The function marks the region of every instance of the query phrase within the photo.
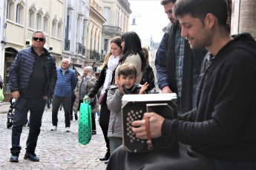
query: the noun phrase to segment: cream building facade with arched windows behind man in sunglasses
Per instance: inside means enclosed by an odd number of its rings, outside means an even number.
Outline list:
[[[30,47],[35,30],[45,32],[45,48],[56,59],[56,66],[60,67],[64,0],[6,0],[4,7],[4,96],[5,101],[9,101],[10,66],[19,50]]]

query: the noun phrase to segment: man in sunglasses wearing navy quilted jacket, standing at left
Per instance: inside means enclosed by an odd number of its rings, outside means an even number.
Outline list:
[[[32,47],[16,55],[10,69],[10,91],[16,99],[13,118],[12,148],[10,162],[18,163],[22,126],[30,110],[30,131],[24,159],[39,161],[36,143],[42,125],[45,102],[53,95],[56,84],[56,64],[50,52],[44,48],[45,33],[33,33]]]

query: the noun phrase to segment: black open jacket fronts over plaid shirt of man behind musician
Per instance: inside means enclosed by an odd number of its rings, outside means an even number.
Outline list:
[[[166,37],[166,69],[168,74],[168,84],[172,92],[177,93],[177,81],[176,81],[176,67],[175,67],[175,36],[176,36],[176,25],[171,27],[171,30]],[[185,41],[184,47],[184,58],[183,58],[183,84],[182,84],[182,94],[181,94],[181,112],[188,112],[192,108],[192,89],[193,89],[193,69],[196,67],[197,75],[199,77],[200,68],[204,56],[206,55],[206,50],[191,50],[188,40]]]

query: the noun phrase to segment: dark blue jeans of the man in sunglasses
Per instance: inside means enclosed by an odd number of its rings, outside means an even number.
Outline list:
[[[22,147],[20,146],[20,138],[22,134],[22,127],[27,120],[27,112],[30,110],[30,130],[27,137],[27,152],[34,153],[36,150],[36,143],[40,134],[42,125],[42,115],[45,110],[46,100],[44,98],[19,98],[15,103],[15,114],[13,117],[13,131],[12,131],[12,154],[19,154]]]

